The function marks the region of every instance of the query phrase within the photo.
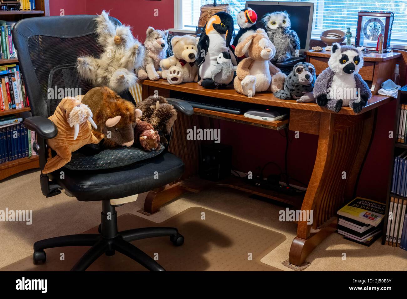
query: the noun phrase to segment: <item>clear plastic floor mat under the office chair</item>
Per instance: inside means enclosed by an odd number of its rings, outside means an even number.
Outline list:
[[[261,258],[286,239],[275,231],[201,207],[190,207],[162,223],[154,223],[133,214],[118,217],[119,231],[158,226],[176,227],[185,237],[184,244],[175,247],[169,237],[131,243],[149,256],[158,257],[158,263],[167,271],[280,271],[260,262]],[[97,227],[85,233],[97,233]],[[0,270],[68,271],[88,248],[45,249],[45,264],[34,265],[30,255]],[[64,260],[60,260],[61,253],[64,253]],[[144,270],[143,266],[117,251],[113,256],[102,255],[88,268],[88,271]]]

